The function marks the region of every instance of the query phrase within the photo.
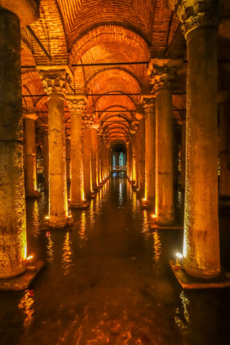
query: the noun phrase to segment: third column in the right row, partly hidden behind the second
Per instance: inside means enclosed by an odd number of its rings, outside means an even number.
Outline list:
[[[143,99],[145,119],[145,194],[144,203],[155,209],[155,99]]]

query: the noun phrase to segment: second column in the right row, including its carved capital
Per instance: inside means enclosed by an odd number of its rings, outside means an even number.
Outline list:
[[[149,72],[155,92],[155,221],[174,221],[172,88],[180,60],[151,59]]]

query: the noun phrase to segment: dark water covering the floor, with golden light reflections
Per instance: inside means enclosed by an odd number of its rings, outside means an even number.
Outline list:
[[[28,200],[27,214],[28,255],[46,267],[30,290],[0,292],[1,345],[230,343],[229,289],[180,288],[169,259],[182,231],[149,230],[125,177],[73,211],[69,230],[41,230],[45,195]]]

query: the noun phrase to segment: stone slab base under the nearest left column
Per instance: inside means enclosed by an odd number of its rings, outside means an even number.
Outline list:
[[[0,279],[0,290],[17,291],[28,288],[43,266],[44,262],[37,260],[32,264],[28,264],[23,274],[13,278]]]

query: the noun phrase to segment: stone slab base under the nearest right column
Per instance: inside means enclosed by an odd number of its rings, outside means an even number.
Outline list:
[[[182,288],[226,288],[230,286],[230,273],[226,272],[225,270],[221,270],[220,274],[217,277],[207,279],[188,275],[184,271],[184,269],[182,267],[180,268],[180,266],[175,264],[175,261],[173,260],[169,260],[169,264]]]

